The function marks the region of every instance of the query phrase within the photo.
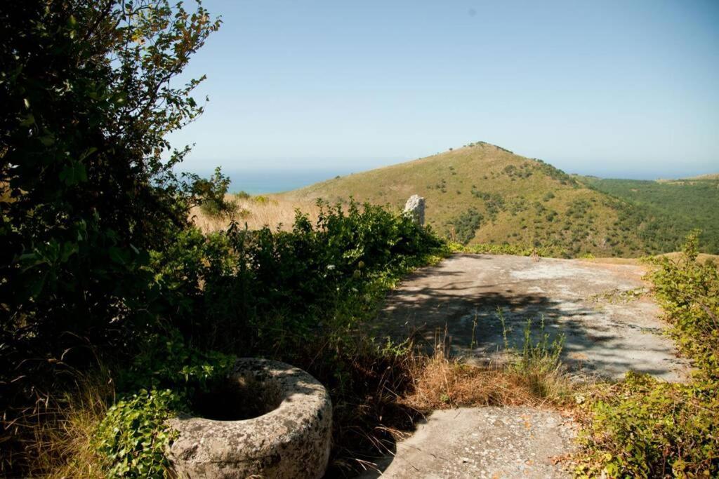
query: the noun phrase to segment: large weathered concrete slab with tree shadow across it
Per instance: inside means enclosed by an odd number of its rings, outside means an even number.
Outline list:
[[[539,339],[544,318],[550,338],[564,335],[562,358],[573,371],[618,379],[633,370],[682,381],[689,365],[663,335],[643,275],[641,266],[626,264],[455,254],[408,276],[388,297],[376,333],[402,340],[414,332],[432,348],[446,327],[452,354],[500,361],[500,308],[510,345],[521,347],[530,319]]]

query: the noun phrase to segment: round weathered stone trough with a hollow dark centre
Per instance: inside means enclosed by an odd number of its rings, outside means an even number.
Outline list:
[[[178,417],[170,472],[180,478],[321,478],[327,468],[332,404],[305,371],[240,358],[224,383],[198,396],[194,417]]]

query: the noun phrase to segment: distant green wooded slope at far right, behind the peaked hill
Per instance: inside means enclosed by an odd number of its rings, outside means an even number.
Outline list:
[[[666,227],[671,224],[686,232],[700,228],[702,248],[708,253],[719,253],[719,175],[660,181],[579,179],[597,190],[663,215],[667,218]]]

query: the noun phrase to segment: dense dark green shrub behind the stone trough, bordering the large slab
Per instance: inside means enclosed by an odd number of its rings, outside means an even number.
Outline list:
[[[400,359],[362,340],[362,321],[374,317],[402,274],[444,250],[429,231],[377,206],[320,203],[320,209],[316,224],[298,214],[290,232],[237,225],[208,236],[188,231],[152,264],[178,297],[181,315],[173,322],[193,344],[288,361],[319,378],[340,415],[335,441],[347,454],[349,445],[374,447],[372,424],[381,424],[384,401],[396,399],[387,397],[385,381],[395,390],[408,377]],[[134,369],[156,362],[148,358]],[[393,372],[385,373],[390,365]],[[175,381],[173,391],[182,385]]]

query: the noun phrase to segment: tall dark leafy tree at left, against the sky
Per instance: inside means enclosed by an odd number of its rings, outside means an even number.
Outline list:
[[[149,251],[187,225],[203,106],[175,78],[219,20],[167,0],[0,3],[0,406],[28,404],[79,345],[124,345],[160,301]],[[164,159],[163,159],[164,158]],[[45,376],[43,376],[45,374]]]

